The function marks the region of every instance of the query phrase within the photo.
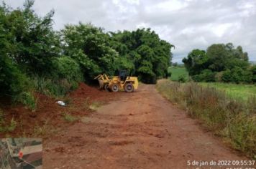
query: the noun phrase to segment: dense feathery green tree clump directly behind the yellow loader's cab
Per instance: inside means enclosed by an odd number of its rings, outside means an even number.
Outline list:
[[[142,82],[155,83],[158,77],[168,76],[168,67],[172,54],[172,44],[161,40],[150,29],[137,29],[133,32],[111,33],[111,47],[119,52],[131,74]]]

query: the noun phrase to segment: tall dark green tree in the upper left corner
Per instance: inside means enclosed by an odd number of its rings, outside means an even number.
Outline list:
[[[26,72],[50,74],[52,58],[60,53],[58,35],[52,29],[54,11],[41,18],[33,11],[33,4],[27,0],[24,8],[0,7],[1,29],[9,42],[5,52]]]

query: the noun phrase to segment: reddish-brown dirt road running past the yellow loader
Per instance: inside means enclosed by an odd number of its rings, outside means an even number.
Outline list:
[[[240,160],[154,85],[123,93],[44,143],[44,168],[188,168],[188,160]]]

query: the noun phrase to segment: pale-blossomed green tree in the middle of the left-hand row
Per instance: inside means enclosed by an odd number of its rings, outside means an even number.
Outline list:
[[[90,81],[99,73],[113,75],[118,69],[119,54],[109,45],[109,34],[91,24],[66,25],[61,31],[64,54],[81,65]]]

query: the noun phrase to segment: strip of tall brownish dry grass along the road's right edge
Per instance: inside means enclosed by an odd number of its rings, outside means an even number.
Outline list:
[[[191,117],[201,120],[209,130],[224,137],[233,148],[255,157],[255,97],[244,102],[227,97],[225,92],[214,87],[202,87],[193,82],[180,84],[170,80],[160,80],[157,90],[187,110]]]

